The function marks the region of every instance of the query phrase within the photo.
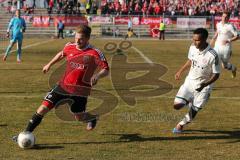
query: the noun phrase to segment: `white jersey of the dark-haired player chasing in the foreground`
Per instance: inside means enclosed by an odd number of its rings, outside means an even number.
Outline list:
[[[214,73],[220,73],[219,57],[210,45],[203,51],[192,45],[188,59],[192,61],[192,65],[186,79],[194,80],[195,85],[208,81]]]

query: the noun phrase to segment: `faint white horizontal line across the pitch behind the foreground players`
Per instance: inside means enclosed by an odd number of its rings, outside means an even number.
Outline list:
[[[47,93],[47,91],[46,91],[46,93]],[[44,97],[44,95],[45,94],[35,95],[35,96],[28,96],[28,95],[1,95],[1,97],[3,97],[3,98],[39,98],[39,97]],[[120,97],[120,96],[116,96],[116,97]],[[149,98],[151,98],[151,97],[149,97]],[[174,96],[158,96],[158,97],[152,97],[152,98],[174,99],[175,97]],[[240,97],[221,97],[221,96],[211,97],[210,96],[210,99],[240,100]]]

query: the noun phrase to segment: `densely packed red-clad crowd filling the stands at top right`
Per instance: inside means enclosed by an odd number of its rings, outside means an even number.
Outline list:
[[[239,16],[239,0],[112,0],[102,2],[102,14],[116,15],[219,15],[224,10]]]

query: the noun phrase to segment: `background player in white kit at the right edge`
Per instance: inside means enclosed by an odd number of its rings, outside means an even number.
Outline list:
[[[233,64],[229,63],[232,46],[231,43],[238,39],[238,32],[234,25],[229,23],[230,13],[223,12],[222,20],[217,23],[217,30],[211,40],[211,46],[214,46],[214,50],[217,52],[220,60],[222,61],[223,68],[232,71],[232,77],[236,77],[237,68]]]

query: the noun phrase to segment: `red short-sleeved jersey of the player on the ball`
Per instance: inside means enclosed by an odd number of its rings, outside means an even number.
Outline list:
[[[68,93],[88,96],[91,91],[91,77],[98,69],[109,70],[104,54],[91,45],[79,49],[76,43],[67,43],[63,49],[66,56],[66,70],[59,85]]]

